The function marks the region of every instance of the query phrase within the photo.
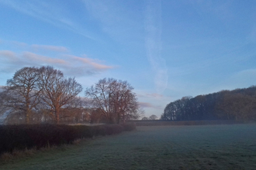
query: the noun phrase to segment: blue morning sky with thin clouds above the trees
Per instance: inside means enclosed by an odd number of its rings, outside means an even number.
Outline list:
[[[256,85],[256,1],[0,0],[0,86],[54,66],[85,89],[134,87],[145,116],[185,96]]]

